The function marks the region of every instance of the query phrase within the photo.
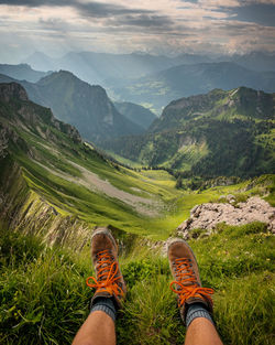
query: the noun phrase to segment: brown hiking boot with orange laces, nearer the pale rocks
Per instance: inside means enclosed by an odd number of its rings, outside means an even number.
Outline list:
[[[177,294],[180,316],[185,322],[188,305],[202,303],[212,313],[212,289],[202,288],[198,263],[191,248],[180,238],[168,246],[168,260],[174,281],[170,289]]]

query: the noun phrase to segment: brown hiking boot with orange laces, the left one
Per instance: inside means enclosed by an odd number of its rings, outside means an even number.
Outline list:
[[[127,293],[127,287],[118,261],[118,245],[107,228],[97,228],[91,237],[91,259],[96,278],[87,278],[87,285],[95,288],[91,299],[98,297],[113,298],[118,309]]]

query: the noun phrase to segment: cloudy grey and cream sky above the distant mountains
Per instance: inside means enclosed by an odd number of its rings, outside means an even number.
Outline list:
[[[0,62],[36,51],[275,52],[275,0],[0,0]]]

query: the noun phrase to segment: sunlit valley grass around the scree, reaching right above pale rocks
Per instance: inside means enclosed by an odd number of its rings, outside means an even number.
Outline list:
[[[46,149],[44,148],[44,150]],[[240,191],[244,190],[250,182],[212,187],[202,192],[180,191],[175,188],[176,181],[166,171],[142,170],[138,172],[124,168],[120,168],[118,171],[92,151],[88,153],[86,160],[82,158],[80,160],[72,153],[68,154],[67,151],[62,154],[63,160],[66,154],[67,160],[75,161],[87,171],[96,173],[102,180],[108,180],[113,186],[133,197],[136,195],[158,203],[158,215],[146,216],[123,201],[78,184],[77,180],[72,183],[69,179],[81,179],[81,173],[78,171],[73,175],[70,166],[66,170],[66,162],[62,164],[63,171],[58,170],[59,161],[58,166],[54,165],[57,172],[64,174],[65,177],[62,177],[23,154],[18,154],[15,160],[23,166],[23,177],[29,187],[36,193],[37,197],[42,196],[62,215],[75,215],[90,227],[111,224],[129,233],[148,236],[154,240],[166,239],[173,234],[176,227],[189,217],[189,212],[195,205],[218,201],[221,195],[229,193],[248,197],[250,194],[257,193],[262,188],[261,184],[266,183],[266,181],[255,182],[253,188],[241,194]],[[54,160],[52,162],[54,164]],[[66,179],[66,174],[69,179]],[[272,186],[263,187],[263,191],[266,188],[273,193]],[[270,200],[272,202],[273,195]],[[146,206],[146,208],[150,207],[155,211],[155,205]]]

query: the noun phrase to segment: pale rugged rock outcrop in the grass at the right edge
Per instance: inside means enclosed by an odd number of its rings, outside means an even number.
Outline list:
[[[178,235],[189,238],[193,229],[205,229],[208,234],[219,223],[228,225],[244,225],[252,222],[262,222],[268,225],[268,229],[275,233],[275,207],[264,200],[253,196],[244,203],[234,204],[234,197],[228,196],[229,203],[208,203],[195,206],[190,211],[190,218],[177,228]]]

